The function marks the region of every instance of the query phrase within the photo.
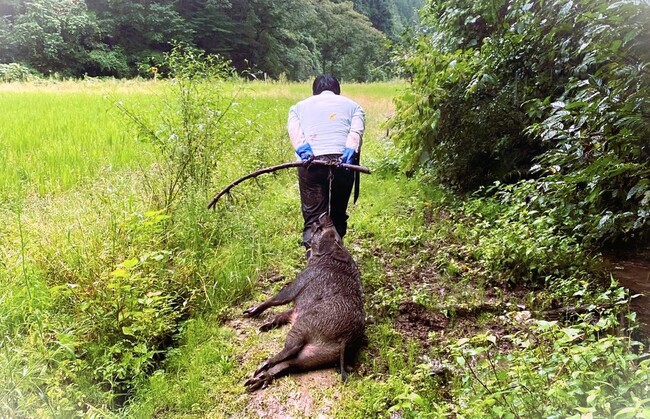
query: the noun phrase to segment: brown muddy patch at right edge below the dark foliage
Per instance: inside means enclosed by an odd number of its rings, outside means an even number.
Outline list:
[[[630,309],[637,314],[641,323],[639,333],[650,339],[650,249],[635,254],[608,255],[612,275],[622,286],[630,290]]]

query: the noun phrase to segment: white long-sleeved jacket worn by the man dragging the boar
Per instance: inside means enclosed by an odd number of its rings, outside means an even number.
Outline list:
[[[287,129],[294,150],[309,143],[316,156],[341,154],[345,147],[359,151],[365,114],[353,100],[326,90],[292,106]]]

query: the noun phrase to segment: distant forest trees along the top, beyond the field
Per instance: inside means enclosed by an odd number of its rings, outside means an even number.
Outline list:
[[[389,39],[420,0],[0,1],[0,64],[63,76],[151,76],[170,42],[232,61],[255,77],[332,72],[385,78]]]

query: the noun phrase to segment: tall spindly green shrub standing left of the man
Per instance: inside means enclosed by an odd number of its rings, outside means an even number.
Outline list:
[[[228,61],[177,44],[160,67],[170,83],[152,116],[122,102],[116,105],[138,138],[153,145],[159,166],[147,169],[147,185],[155,205],[169,208],[183,191],[210,184],[222,142],[239,131],[232,125],[239,122],[229,119],[235,97],[224,91],[224,82],[233,76]]]

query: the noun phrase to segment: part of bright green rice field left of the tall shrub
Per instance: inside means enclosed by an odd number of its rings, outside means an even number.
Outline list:
[[[147,164],[145,148],[125,129],[112,101],[145,106],[152,95],[115,85],[0,86],[0,190],[41,194]]]

